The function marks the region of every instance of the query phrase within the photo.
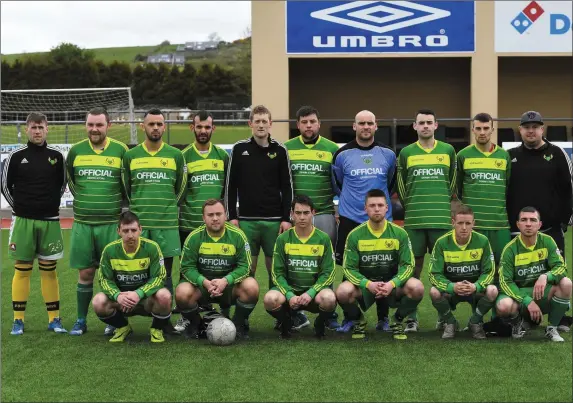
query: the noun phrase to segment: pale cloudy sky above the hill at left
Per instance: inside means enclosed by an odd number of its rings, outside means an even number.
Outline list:
[[[61,42],[81,48],[243,38],[250,1],[2,1],[3,54],[47,52]]]

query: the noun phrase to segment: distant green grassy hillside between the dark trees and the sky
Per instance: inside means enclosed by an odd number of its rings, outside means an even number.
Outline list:
[[[251,46],[250,40],[238,40],[233,43],[228,43],[221,46],[219,49],[206,50],[206,51],[188,51],[185,52],[187,61],[195,67],[199,67],[205,62],[219,64],[225,67],[234,67],[249,50]],[[102,60],[104,63],[111,63],[113,61],[130,63],[132,66],[137,65],[135,57],[139,55],[152,55],[156,53],[171,53],[174,52],[177,45],[155,45],[155,46],[131,46],[131,47],[116,47],[116,48],[97,48],[89,49],[94,52],[97,60]],[[20,53],[11,55],[2,55],[3,61],[13,63],[16,59],[25,59],[27,57],[34,57],[47,52],[41,53]]]

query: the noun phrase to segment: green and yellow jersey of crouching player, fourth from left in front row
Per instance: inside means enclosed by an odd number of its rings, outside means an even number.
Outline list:
[[[348,234],[342,267],[348,281],[362,289],[369,281],[392,281],[401,287],[414,273],[410,238],[387,220],[380,232],[366,221]]]

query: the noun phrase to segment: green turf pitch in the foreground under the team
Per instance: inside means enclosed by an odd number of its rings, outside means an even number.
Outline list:
[[[477,341],[469,333],[441,340],[426,285],[420,305],[420,332],[406,341],[374,330],[368,341],[328,332],[314,340],[304,329],[282,341],[272,329],[262,297],[267,277],[262,255],[257,279],[260,301],[251,316],[251,340],[216,347],[206,340],[149,342],[149,318],[132,318],[135,334],[122,345],[108,343],[105,325],[90,311],[89,332],[81,337],[48,333],[37,264],[26,312],[26,332],[11,336],[12,262],[8,231],[2,251],[2,401],[571,401],[571,333],[550,343],[543,329],[523,340]],[[66,256],[58,264],[61,315],[68,330],[76,317],[77,273],[68,267],[70,231],[64,231]],[[571,231],[567,234],[571,245]],[[569,249],[567,260],[571,262]],[[571,273],[571,264],[569,264]],[[174,268],[178,278],[178,265]],[[340,282],[341,273],[338,271]],[[96,286],[95,291],[99,288]],[[570,313],[569,313],[570,314]],[[462,325],[467,304],[455,313]],[[311,322],[314,315],[309,314]],[[489,315],[488,317],[489,318]],[[177,317],[173,318],[175,321]]]

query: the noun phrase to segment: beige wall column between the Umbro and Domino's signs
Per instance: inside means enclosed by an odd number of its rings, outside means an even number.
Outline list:
[[[498,117],[498,74],[495,53],[495,2],[476,1],[476,52],[471,67],[471,115],[487,112]],[[494,127],[497,128],[497,124]],[[475,143],[470,134],[471,143]],[[497,130],[491,140],[497,144]]]

